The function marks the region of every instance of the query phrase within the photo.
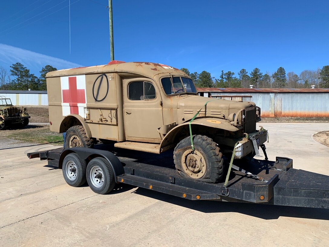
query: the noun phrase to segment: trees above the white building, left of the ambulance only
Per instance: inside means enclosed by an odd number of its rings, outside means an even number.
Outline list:
[[[0,67],[0,89],[1,90],[47,90],[46,74],[57,70],[51,65],[46,65],[40,70],[40,76],[30,72],[21,63],[10,66],[10,71]]]

